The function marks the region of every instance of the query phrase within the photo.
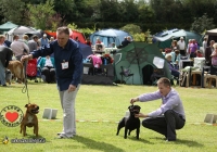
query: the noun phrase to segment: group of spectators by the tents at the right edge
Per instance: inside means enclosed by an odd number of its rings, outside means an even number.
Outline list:
[[[183,37],[180,37],[178,41],[173,40],[170,48],[165,49],[163,54],[165,55],[171,75],[177,78],[180,74],[180,60],[205,58],[205,65],[210,66],[212,71],[215,71],[217,67],[216,49],[217,43],[215,43],[215,40],[210,40],[208,45],[207,37],[204,37],[202,47],[200,47],[195,39],[189,39],[189,42],[186,43]]]

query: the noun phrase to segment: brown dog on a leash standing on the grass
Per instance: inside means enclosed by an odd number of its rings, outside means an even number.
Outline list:
[[[26,113],[21,122],[21,134],[23,131],[23,136],[26,136],[26,126],[34,127],[34,134],[38,137],[38,118],[36,114],[39,112],[39,106],[37,104],[26,104],[27,107]]]

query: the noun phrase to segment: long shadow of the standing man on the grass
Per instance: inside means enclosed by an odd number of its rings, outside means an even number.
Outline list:
[[[92,139],[85,138],[81,136],[76,136],[75,138],[73,138],[73,140],[76,140],[77,142],[80,142],[85,144],[88,149],[92,149],[92,150],[98,150],[98,151],[103,151],[103,152],[124,152],[123,149],[116,148],[113,144],[94,141]]]

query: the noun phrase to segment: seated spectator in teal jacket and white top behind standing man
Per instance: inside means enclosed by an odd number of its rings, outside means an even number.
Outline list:
[[[55,83],[55,63],[53,58],[49,55],[41,58],[38,66],[41,68],[41,77],[44,83]]]

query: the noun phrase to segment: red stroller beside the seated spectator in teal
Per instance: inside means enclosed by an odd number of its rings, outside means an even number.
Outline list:
[[[28,79],[35,79],[35,83],[38,83],[37,78],[40,78],[41,81],[41,73],[37,67],[37,59],[31,59],[28,61],[26,65],[26,76]]]

